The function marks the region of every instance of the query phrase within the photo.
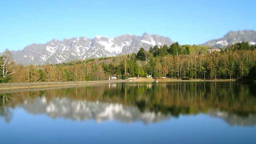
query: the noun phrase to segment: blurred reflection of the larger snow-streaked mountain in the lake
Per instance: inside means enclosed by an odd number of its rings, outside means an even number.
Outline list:
[[[36,107],[36,108],[35,108]],[[46,102],[45,96],[36,98],[33,103],[25,101],[20,106],[32,114],[46,114],[52,118],[65,118],[77,121],[95,120],[97,122],[115,120],[125,123],[144,122],[145,124],[170,119],[169,114],[161,112],[141,112],[138,107],[118,103],[90,102],[53,98]]]

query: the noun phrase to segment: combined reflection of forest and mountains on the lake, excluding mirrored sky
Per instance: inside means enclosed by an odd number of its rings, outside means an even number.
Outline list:
[[[31,114],[101,122],[160,122],[200,113],[230,125],[256,124],[255,85],[238,82],[110,83],[0,94],[0,116],[8,122],[12,108]]]

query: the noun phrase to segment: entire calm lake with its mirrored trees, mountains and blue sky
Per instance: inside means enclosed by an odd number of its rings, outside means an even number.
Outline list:
[[[120,82],[0,91],[0,140],[255,144],[256,85]]]

